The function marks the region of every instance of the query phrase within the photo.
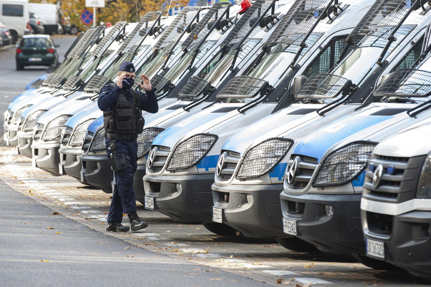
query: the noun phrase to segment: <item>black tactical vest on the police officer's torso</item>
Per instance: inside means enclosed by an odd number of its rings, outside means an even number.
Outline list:
[[[115,84],[109,84],[115,87]],[[116,100],[113,111],[103,112],[103,125],[106,133],[110,135],[138,135],[144,130],[144,118],[142,110],[136,106],[136,94],[133,95],[133,103],[127,100],[123,91]]]

